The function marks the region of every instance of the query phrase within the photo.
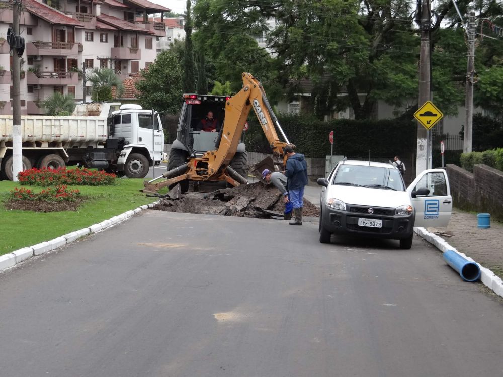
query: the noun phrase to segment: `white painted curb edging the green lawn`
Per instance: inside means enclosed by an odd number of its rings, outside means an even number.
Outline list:
[[[148,205],[143,205],[141,207],[135,208],[134,210],[129,210],[126,211],[118,216],[111,217],[108,220],[103,220],[99,224],[93,224],[87,228],[83,228],[80,230],[76,230],[74,232],[70,232],[68,234],[65,234],[61,237],[54,238],[50,241],[45,241],[38,243],[36,245],[30,246],[30,247],[24,247],[22,249],[18,249],[16,251],[13,251],[12,253],[5,254],[0,256],[0,272],[3,270],[6,270],[8,268],[14,267],[15,265],[30,259],[31,257],[35,255],[41,255],[46,252],[56,250],[60,248],[61,246],[64,246],[70,242],[76,241],[79,238],[85,237],[88,234],[91,233],[97,233],[101,232],[102,230],[106,228],[110,228],[112,225],[118,224],[121,221],[129,219],[131,216],[136,215],[137,213],[140,213],[143,210],[146,210],[147,208],[152,208],[154,205],[158,204],[160,200],[157,200],[153,203],[150,203]]]

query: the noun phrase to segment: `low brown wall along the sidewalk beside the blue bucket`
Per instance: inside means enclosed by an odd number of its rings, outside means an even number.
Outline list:
[[[503,221],[503,172],[487,165],[475,165],[473,173],[447,165],[447,175],[455,207],[486,212]]]

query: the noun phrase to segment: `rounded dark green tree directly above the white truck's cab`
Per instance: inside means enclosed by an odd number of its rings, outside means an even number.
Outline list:
[[[162,51],[141,75],[144,79],[136,83],[136,89],[142,107],[170,114],[180,110],[183,71],[175,53]]]

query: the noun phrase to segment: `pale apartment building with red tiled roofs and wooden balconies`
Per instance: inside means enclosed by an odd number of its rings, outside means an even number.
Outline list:
[[[125,80],[157,55],[165,24],[149,15],[169,12],[148,0],[22,0],[21,114],[43,114],[40,101],[54,92],[91,99],[84,72],[111,68]],[[138,17],[139,16],[139,17]],[[0,114],[12,114],[12,57],[5,38],[12,2],[0,0]],[[84,94],[85,92],[85,94]]]

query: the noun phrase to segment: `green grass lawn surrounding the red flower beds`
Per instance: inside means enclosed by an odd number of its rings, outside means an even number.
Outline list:
[[[88,197],[77,211],[39,213],[6,210],[5,201],[14,187],[35,192],[42,191],[43,187],[0,181],[0,255],[86,228],[156,200],[140,193],[143,179],[117,179],[116,182],[111,186],[68,186]]]

